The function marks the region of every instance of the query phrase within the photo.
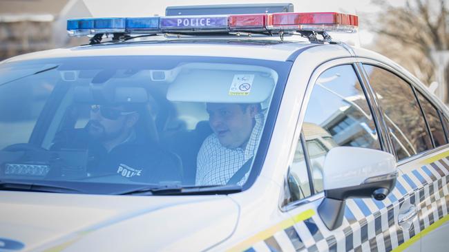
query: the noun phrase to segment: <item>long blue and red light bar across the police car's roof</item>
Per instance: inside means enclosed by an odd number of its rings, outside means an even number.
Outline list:
[[[356,32],[359,19],[337,12],[68,19],[70,36],[159,32]]]

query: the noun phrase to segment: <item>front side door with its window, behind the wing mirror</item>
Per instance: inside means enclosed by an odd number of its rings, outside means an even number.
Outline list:
[[[298,121],[301,133],[294,149],[294,156],[303,154],[304,160],[292,161],[286,187],[290,194],[300,194],[284,206],[296,221],[296,244],[309,251],[391,251],[409,240],[417,240],[409,249],[420,251],[419,220],[417,215],[408,215],[417,202],[417,193],[403,185],[405,178],[398,179],[397,187],[385,200],[346,200],[343,224],[332,231],[316,214],[323,198],[322,167],[329,149],[355,146],[391,151],[379,112],[372,106],[374,99],[356,72],[359,66],[352,59],[331,61],[318,67],[307,88]],[[302,174],[294,174],[295,170]],[[299,178],[296,181],[303,178],[297,183],[300,186],[292,185],[292,177]],[[309,187],[304,189],[307,182]],[[303,193],[307,190],[311,192],[309,198]],[[404,215],[408,222],[403,225],[410,225],[408,229],[399,227],[399,218]]]

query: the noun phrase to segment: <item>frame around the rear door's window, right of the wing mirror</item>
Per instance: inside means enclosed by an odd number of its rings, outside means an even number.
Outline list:
[[[422,151],[419,154],[415,154],[413,156],[410,156],[408,158],[404,158],[403,160],[398,160],[397,161],[397,166],[401,166],[404,165],[408,162],[412,162],[414,160],[418,160],[419,158],[423,158],[424,156],[430,155],[432,153],[435,153],[437,151],[441,151],[442,149],[446,149],[449,145],[441,145],[439,147],[434,147],[434,142],[433,142],[433,138],[432,138],[432,134],[430,132],[430,128],[426,119],[426,116],[423,114],[422,112],[422,108],[421,108],[421,103],[419,103],[419,99],[417,98],[417,93],[416,90],[418,90],[423,96],[424,98],[427,98],[428,101],[437,109],[438,112],[443,113],[443,116],[446,116],[447,118],[449,118],[449,111],[447,108],[443,108],[443,104],[441,103],[441,101],[438,101],[436,96],[433,97],[430,95],[429,91],[427,90],[427,87],[425,85],[423,85],[423,83],[421,83],[417,78],[415,78],[414,76],[412,76],[411,74],[407,73],[405,70],[401,69],[401,67],[399,66],[392,66],[389,65],[388,63],[383,63],[381,61],[377,61],[375,59],[370,59],[370,58],[359,58],[359,65],[361,66],[361,72],[363,73],[363,75],[365,75],[365,80],[366,80],[366,85],[368,85],[370,87],[370,92],[372,92],[372,95],[374,96],[374,90],[372,89],[369,79],[367,78],[368,74],[365,71],[365,68],[363,67],[363,65],[372,65],[374,67],[380,67],[385,71],[388,71],[392,74],[394,74],[395,76],[398,76],[399,78],[401,78],[403,81],[405,81],[405,83],[408,83],[408,85],[410,85],[412,87],[413,90],[413,94],[414,94],[414,98],[417,100],[418,104],[419,104],[419,108],[421,110],[421,114],[424,118],[424,121],[426,123],[426,130],[428,132],[428,134],[430,134],[430,138],[432,140],[432,145],[433,148],[432,149],[428,149],[426,151]],[[375,96],[374,96],[374,99]],[[381,112],[379,119],[383,121],[383,125],[385,126],[385,128],[383,130],[385,130],[385,132],[388,132],[388,127],[386,127],[386,122],[385,119],[383,118],[383,110],[381,108],[381,106],[379,105],[379,102],[377,103],[377,107],[379,109],[379,111]],[[441,122],[442,123],[442,122]],[[443,125],[443,129],[446,130],[446,128]],[[397,155],[394,151],[394,145],[392,144],[392,139],[390,137],[390,134],[387,134],[388,137],[388,143],[390,145],[389,149],[391,149],[390,154],[393,154],[396,158]]]

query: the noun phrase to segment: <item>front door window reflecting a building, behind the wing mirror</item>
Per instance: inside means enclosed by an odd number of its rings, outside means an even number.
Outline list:
[[[332,67],[321,74],[309,98],[302,129],[316,192],[323,191],[324,160],[333,147],[381,149],[352,65]]]

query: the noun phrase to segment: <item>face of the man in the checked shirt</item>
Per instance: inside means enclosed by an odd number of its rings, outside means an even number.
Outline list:
[[[254,127],[256,108],[238,104],[207,103],[209,123],[224,147],[235,149],[249,140]]]

